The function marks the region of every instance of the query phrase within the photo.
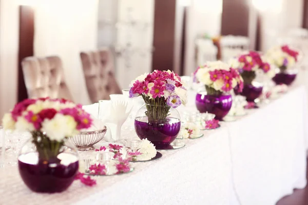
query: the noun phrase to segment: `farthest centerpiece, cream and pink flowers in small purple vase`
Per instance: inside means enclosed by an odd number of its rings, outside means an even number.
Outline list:
[[[297,70],[294,69],[294,66],[298,62],[299,51],[291,49],[287,45],[276,46],[267,51],[266,57],[271,64],[279,68],[279,72],[273,77],[275,83],[277,85],[291,85],[297,75]]]

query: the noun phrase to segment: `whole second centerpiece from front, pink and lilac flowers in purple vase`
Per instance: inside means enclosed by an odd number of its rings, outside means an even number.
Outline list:
[[[138,136],[147,138],[156,147],[168,146],[181,127],[175,108],[187,101],[187,90],[181,78],[169,70],[145,73],[131,82],[129,96],[141,96],[145,102],[135,119]]]

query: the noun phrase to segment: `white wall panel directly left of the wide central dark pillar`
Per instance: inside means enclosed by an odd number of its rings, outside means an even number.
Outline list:
[[[122,88],[128,88],[131,80],[151,71],[153,45],[154,0],[119,0],[118,20],[136,22],[132,27],[118,27],[116,44],[129,52],[116,60],[117,78]],[[148,26],[144,26],[147,24]]]

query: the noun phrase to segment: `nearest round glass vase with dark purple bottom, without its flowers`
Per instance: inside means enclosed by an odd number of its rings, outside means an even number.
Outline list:
[[[78,152],[69,141],[65,141],[58,150],[56,156],[40,157],[33,138],[22,147],[18,155],[18,170],[30,190],[40,193],[63,192],[72,184],[79,169]],[[46,149],[44,152],[52,150]]]

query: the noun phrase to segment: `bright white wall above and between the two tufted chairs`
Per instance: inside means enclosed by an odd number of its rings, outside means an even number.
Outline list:
[[[42,2],[37,4],[34,20],[34,55],[60,56],[74,101],[89,104],[80,52],[97,49],[98,1]]]

